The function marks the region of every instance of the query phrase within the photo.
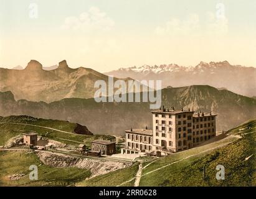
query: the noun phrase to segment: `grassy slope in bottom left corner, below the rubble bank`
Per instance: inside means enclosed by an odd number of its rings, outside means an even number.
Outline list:
[[[17,164],[19,162],[19,164]],[[75,167],[57,168],[42,164],[35,154],[25,152],[0,152],[0,186],[67,186],[90,176],[90,171]],[[37,165],[38,180],[29,180],[30,165]],[[26,174],[19,180],[9,180],[8,175]]]

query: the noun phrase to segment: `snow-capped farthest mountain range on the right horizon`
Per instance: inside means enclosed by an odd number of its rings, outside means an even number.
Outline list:
[[[105,75],[135,80],[162,80],[162,86],[210,85],[245,96],[256,95],[256,68],[230,65],[229,62],[201,62],[196,67],[170,65],[143,65],[120,68]]]

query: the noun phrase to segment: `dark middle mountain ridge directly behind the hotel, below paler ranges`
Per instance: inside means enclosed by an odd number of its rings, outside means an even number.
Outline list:
[[[52,93],[54,95],[54,93]],[[256,118],[256,99],[212,86],[164,88],[162,105],[218,114],[217,131],[230,129]],[[131,127],[151,127],[149,103],[96,103],[93,98],[69,98],[52,103],[14,99],[11,91],[0,92],[0,115],[29,115],[80,123],[94,134],[123,134]]]

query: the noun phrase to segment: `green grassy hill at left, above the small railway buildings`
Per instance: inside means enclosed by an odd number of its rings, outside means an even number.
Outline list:
[[[85,143],[90,147],[90,141],[94,139],[114,139],[115,137],[109,135],[79,135],[79,134],[65,134],[64,132],[58,132],[50,129],[44,129],[35,126],[26,126],[18,124],[1,124],[3,122],[7,123],[22,123],[22,124],[33,124],[37,126],[52,127],[60,131],[73,132],[75,128],[74,123],[69,123],[68,121],[59,121],[53,119],[37,119],[29,116],[8,116],[0,117],[0,146],[4,145],[8,139],[17,136],[27,131],[36,131],[40,136],[45,136],[50,139],[55,139],[57,141],[63,142],[65,144],[72,144],[77,146],[79,143]],[[70,141],[68,141],[70,140]],[[75,142],[72,142],[75,141]]]

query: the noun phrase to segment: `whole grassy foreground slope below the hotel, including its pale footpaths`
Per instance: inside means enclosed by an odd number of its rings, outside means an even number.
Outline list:
[[[239,131],[239,129],[244,129]],[[220,141],[186,150],[157,160],[143,162],[140,186],[255,186],[256,185],[256,120],[228,131]],[[216,179],[216,166],[224,165],[225,180]],[[91,178],[78,185],[134,185],[138,165],[107,175]],[[204,178],[203,170],[206,169]],[[127,173],[129,175],[127,175]],[[120,179],[123,182],[120,182]],[[110,183],[107,183],[110,182]]]

